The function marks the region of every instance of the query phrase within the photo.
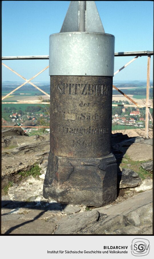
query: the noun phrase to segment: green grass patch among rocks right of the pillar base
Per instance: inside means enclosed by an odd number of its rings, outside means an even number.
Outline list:
[[[150,160],[149,160],[150,161]],[[147,162],[147,160],[144,161],[133,161],[131,160],[127,155],[125,155],[121,161],[120,167],[122,168],[129,168],[136,173],[139,174],[142,180],[146,179],[148,176],[151,178],[153,177],[152,173],[146,171],[141,167],[141,164]],[[131,164],[131,166],[127,166],[127,164]]]

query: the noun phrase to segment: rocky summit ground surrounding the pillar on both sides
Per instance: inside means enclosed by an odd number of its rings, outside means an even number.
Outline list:
[[[49,150],[49,134],[2,137],[2,187],[14,182],[2,196],[2,234],[152,234],[151,177],[141,182],[131,169],[119,169],[119,188],[127,188],[127,197],[133,197],[122,201],[118,197],[114,203],[97,208],[61,204],[42,196]],[[112,150],[119,164],[125,153],[131,159],[137,153],[137,159],[141,155],[141,160],[147,160],[152,141],[116,133],[112,135]],[[35,164],[41,167],[41,175],[19,181],[18,173]],[[142,167],[151,172],[152,161]],[[141,193],[134,195],[137,192]]]

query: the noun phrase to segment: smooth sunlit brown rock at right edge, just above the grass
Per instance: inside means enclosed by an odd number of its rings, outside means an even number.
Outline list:
[[[133,143],[128,147],[126,155],[133,161],[144,161],[153,158],[153,147],[147,144]]]

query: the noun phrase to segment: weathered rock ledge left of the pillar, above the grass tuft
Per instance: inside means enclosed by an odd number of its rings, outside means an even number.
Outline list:
[[[50,142],[41,141],[2,151],[2,188],[9,181],[18,181],[18,172],[30,170],[34,164],[47,161],[49,149]]]

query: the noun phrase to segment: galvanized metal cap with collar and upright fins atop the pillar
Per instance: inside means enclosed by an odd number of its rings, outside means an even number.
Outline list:
[[[105,33],[94,1],[71,1],[49,46],[50,76],[114,76],[114,36]]]

